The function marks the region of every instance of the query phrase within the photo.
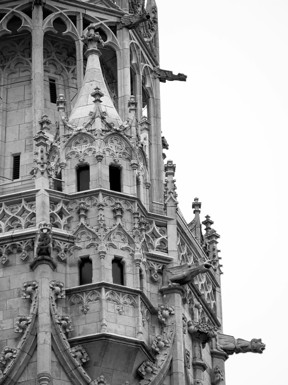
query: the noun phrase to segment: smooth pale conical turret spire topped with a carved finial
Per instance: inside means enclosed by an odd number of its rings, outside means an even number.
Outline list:
[[[103,97],[101,97],[101,109],[106,111],[107,120],[119,127],[122,122],[109,96],[99,61],[99,57],[101,56],[99,47],[104,46],[103,40],[99,32],[95,32],[97,29],[96,24],[91,23],[87,29],[88,32],[86,35],[83,35],[81,38],[82,42],[87,46],[85,52],[85,56],[87,57],[86,71],[83,85],[69,120],[77,126],[81,126],[84,122],[89,121],[89,112],[94,110],[94,97],[91,96],[91,94],[94,93],[95,87],[98,87],[103,94]]]

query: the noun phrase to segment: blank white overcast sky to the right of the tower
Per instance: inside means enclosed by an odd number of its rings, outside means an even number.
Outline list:
[[[188,76],[161,83],[179,206],[190,221],[199,197],[221,235],[224,333],[266,343],[262,355],[230,356],[226,384],[284,384],[288,2],[157,7],[161,68]]]

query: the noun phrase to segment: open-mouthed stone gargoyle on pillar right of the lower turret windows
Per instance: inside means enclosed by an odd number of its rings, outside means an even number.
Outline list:
[[[200,273],[206,273],[212,266],[212,261],[195,259],[195,263],[184,263],[166,269],[169,286],[187,285]]]

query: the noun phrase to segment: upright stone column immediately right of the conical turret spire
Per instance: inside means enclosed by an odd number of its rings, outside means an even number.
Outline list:
[[[118,63],[118,106],[119,116],[124,122],[128,114],[128,100],[131,95],[129,29],[119,29],[117,31],[117,38],[121,44],[121,62]]]

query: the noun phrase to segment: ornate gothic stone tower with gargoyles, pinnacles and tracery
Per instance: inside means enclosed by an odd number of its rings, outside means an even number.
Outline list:
[[[177,209],[154,0],[0,13],[0,384],[224,385],[265,345],[223,334],[219,235]]]

